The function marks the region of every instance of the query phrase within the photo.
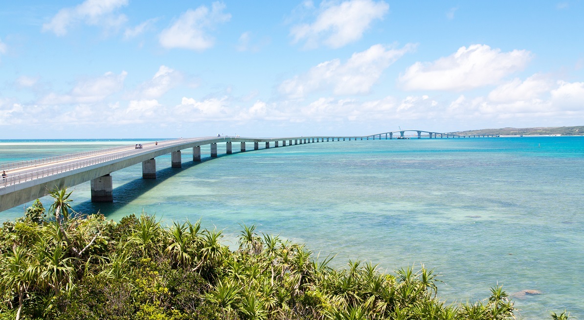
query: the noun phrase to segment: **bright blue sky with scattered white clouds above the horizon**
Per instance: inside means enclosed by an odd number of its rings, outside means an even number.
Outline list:
[[[0,0],[0,140],[584,124],[583,1]]]

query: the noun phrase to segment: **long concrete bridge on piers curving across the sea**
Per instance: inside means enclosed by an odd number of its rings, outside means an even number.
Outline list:
[[[286,138],[244,138],[244,137],[202,137],[165,140],[142,145],[135,145],[101,149],[95,151],[78,152],[48,158],[32,159],[0,165],[0,171],[7,176],[0,180],[0,211],[7,210],[43,197],[48,189],[70,187],[91,181],[91,200],[94,202],[113,201],[113,183],[110,173],[128,166],[142,163],[142,178],[156,178],[157,156],[171,154],[172,168],[182,166],[180,150],[193,148],[193,161],[201,161],[201,145],[210,145],[211,158],[217,157],[217,143],[225,142],[226,153],[232,154],[232,143],[239,142],[239,151],[246,151],[246,143],[253,143],[253,149],[286,147],[287,145],[302,145],[314,142],[346,141],[346,140],[376,140],[392,139],[394,133],[404,138],[404,133],[415,131],[418,138],[422,133],[430,138],[469,138],[469,137],[498,137],[498,135],[454,135],[448,133],[434,133],[422,130],[399,130],[387,133],[377,133],[364,136],[313,136],[313,137],[286,137]],[[251,145],[250,145],[251,147]]]

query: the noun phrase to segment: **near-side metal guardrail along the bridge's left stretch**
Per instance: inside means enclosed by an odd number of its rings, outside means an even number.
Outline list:
[[[158,142],[158,145],[155,145],[154,142],[152,142],[152,143],[148,143],[148,144],[142,144],[142,146],[143,146],[142,149],[135,149],[134,145],[109,148],[109,149],[101,149],[101,150],[99,150],[100,151],[99,153],[114,152],[114,151],[122,150],[122,149],[125,149],[128,147],[134,148],[134,149],[130,149],[129,151],[119,152],[119,153],[116,153],[113,155],[98,156],[98,157],[91,158],[91,159],[69,162],[68,164],[64,164],[64,165],[51,166],[50,168],[41,169],[41,170],[37,170],[37,171],[33,171],[33,172],[20,173],[18,175],[10,175],[7,178],[0,179],[0,187],[12,186],[12,185],[16,185],[18,183],[23,183],[23,182],[27,182],[27,181],[39,179],[39,178],[44,178],[46,176],[56,175],[58,173],[62,173],[62,172],[66,172],[66,171],[71,171],[71,170],[75,170],[75,169],[79,169],[79,168],[84,168],[87,166],[101,164],[103,162],[112,161],[114,159],[124,158],[124,157],[129,156],[129,155],[135,155],[135,154],[140,154],[142,152],[152,151],[153,149],[158,149],[161,147],[172,147],[173,145],[180,145],[180,144],[185,144],[188,142],[195,142],[195,141],[199,141],[199,140],[201,140],[201,138],[166,140],[166,141]],[[85,152],[80,152],[80,153],[83,153],[85,155],[91,155],[91,154],[86,154]],[[96,152],[92,151],[91,153],[95,154]],[[51,157],[51,158],[58,158],[58,157]],[[68,158],[71,158],[71,157],[69,156]],[[50,158],[46,158],[46,159],[50,159]],[[56,159],[53,161],[58,161],[58,160],[60,160],[60,159]],[[47,162],[45,162],[45,163],[47,163]]]

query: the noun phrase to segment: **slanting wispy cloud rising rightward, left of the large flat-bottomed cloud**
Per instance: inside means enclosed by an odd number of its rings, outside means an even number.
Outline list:
[[[344,64],[339,59],[322,62],[306,74],[282,82],[279,91],[290,98],[329,88],[336,95],[368,93],[387,67],[414,49],[413,44],[399,49],[375,44],[354,53]]]

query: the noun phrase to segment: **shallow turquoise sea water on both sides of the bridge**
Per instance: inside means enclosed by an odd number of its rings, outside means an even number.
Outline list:
[[[145,141],[0,141],[0,162]],[[140,165],[112,173],[114,203],[93,204],[89,183],[78,185],[74,207],[114,220],[142,209],[201,218],[227,241],[238,223],[255,223],[336,253],[338,266],[435,267],[449,301],[483,299],[503,284],[523,319],[564,308],[584,317],[584,137],[335,141],[200,164],[182,155],[181,169],[157,158],[156,180],[142,180]]]

